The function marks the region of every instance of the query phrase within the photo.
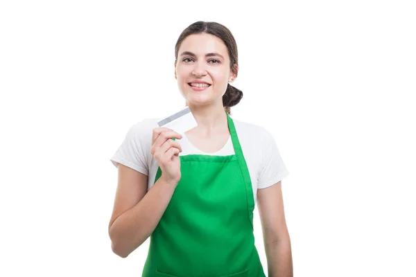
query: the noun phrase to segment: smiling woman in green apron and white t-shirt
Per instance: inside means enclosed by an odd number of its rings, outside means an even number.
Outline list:
[[[150,237],[143,275],[265,276],[254,246],[257,199],[268,276],[292,276],[281,179],[288,171],[266,129],[229,116],[243,93],[229,30],[198,21],[175,47],[175,78],[198,127],[182,136],[133,125],[111,161],[119,181],[112,250],[125,258]]]

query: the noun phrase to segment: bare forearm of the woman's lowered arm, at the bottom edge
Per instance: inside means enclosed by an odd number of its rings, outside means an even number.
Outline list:
[[[269,277],[293,277],[291,240],[279,240],[265,245]]]

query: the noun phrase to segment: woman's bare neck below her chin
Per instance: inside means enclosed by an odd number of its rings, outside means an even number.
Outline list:
[[[196,132],[209,135],[228,131],[227,114],[225,114],[222,101],[219,104],[207,106],[188,105],[198,123],[198,127],[195,128]]]

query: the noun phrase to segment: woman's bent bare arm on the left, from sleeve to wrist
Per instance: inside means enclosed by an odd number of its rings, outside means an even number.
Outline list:
[[[160,178],[146,193],[148,177],[119,164],[119,180],[108,232],[112,251],[126,258],[155,230],[176,185]]]

